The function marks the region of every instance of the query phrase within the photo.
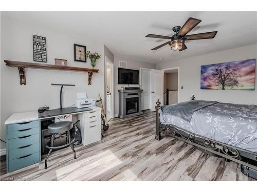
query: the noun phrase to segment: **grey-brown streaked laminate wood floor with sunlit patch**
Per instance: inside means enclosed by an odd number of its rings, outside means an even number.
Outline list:
[[[53,152],[44,169],[39,165],[20,172],[6,173],[1,162],[2,180],[36,181],[253,181],[241,173],[235,162],[208,155],[194,146],[169,136],[154,139],[155,113],[109,122],[101,142]]]

